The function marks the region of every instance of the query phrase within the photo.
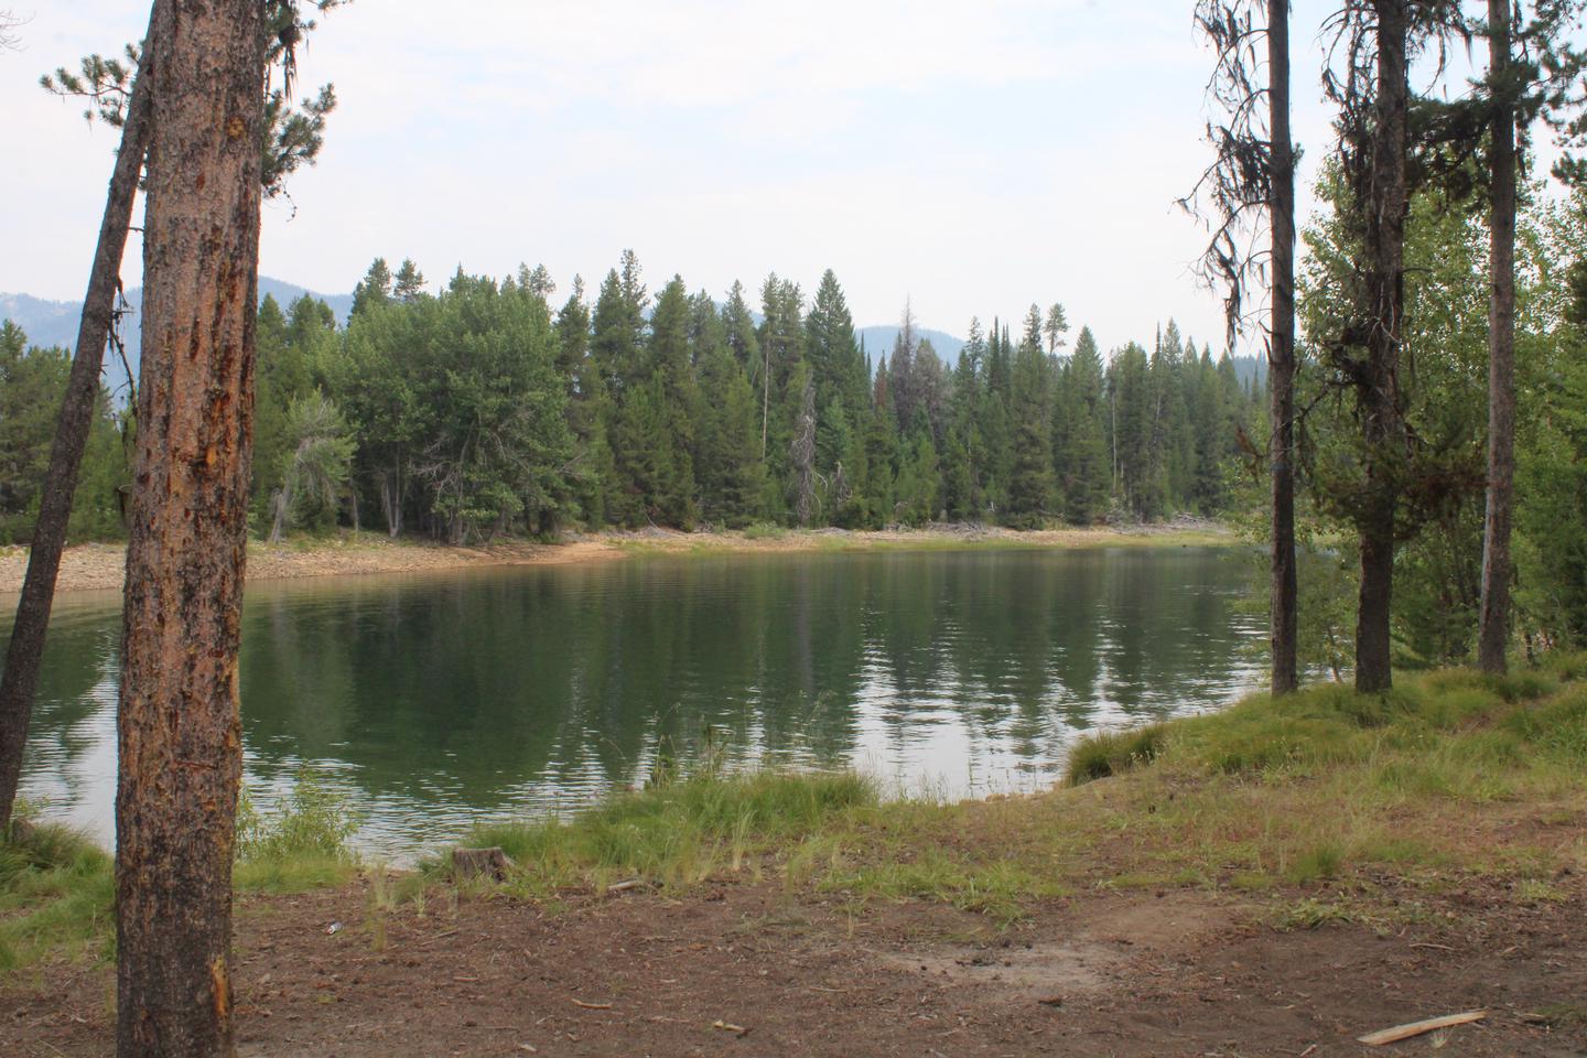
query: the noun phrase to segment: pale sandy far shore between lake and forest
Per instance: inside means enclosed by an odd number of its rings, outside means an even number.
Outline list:
[[[978,547],[1081,549],[1139,546],[1227,546],[1239,538],[1214,522],[1174,522],[1101,528],[1016,531],[986,525],[943,525],[919,530],[751,530],[695,531],[646,528],[638,531],[570,533],[552,544],[503,539],[451,547],[382,533],[343,531],[297,538],[282,544],[249,541],[248,576],[254,581],[354,576],[365,573],[421,573],[471,566],[551,566],[611,562],[633,555],[789,554],[822,550],[954,550]],[[60,563],[59,592],[114,592],[122,587],[127,549],[122,544],[68,547]],[[0,595],[22,590],[27,549],[0,549]]]

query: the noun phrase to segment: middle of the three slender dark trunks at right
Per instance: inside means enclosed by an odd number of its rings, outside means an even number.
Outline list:
[[[1355,688],[1393,685],[1389,615],[1393,600],[1395,514],[1404,462],[1400,339],[1404,317],[1406,40],[1409,0],[1373,0],[1378,13],[1378,98],[1368,130],[1365,200],[1370,297],[1362,390],[1366,500],[1360,514],[1362,585],[1355,615]]]

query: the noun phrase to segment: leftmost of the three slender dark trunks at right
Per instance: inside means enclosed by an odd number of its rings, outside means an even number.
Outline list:
[[[1273,552],[1270,631],[1273,695],[1300,685],[1295,576],[1295,148],[1290,140],[1290,0],[1268,0],[1268,130],[1271,138],[1273,306],[1268,385],[1273,419]]]

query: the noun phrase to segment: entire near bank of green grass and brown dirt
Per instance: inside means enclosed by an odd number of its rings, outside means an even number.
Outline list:
[[[1435,1048],[1576,1053],[1584,677],[1560,654],[1406,677],[1392,706],[1255,695],[987,801],[679,771],[481,825],[478,874],[451,842],[414,871],[336,852],[311,792],[233,872],[238,1053],[1162,1058],[1236,1025],[1241,1053],[1343,1055],[1457,1010]],[[108,1053],[110,855],[13,841],[0,1053]]]

